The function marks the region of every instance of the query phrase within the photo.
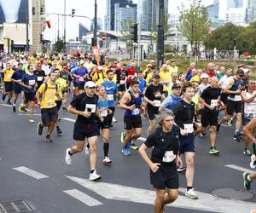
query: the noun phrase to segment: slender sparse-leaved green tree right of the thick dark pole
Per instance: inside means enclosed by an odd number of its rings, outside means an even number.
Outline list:
[[[197,55],[199,45],[206,41],[210,27],[207,8],[201,5],[201,0],[193,0],[189,9],[182,4],[178,10],[180,25],[177,29],[189,40],[192,54]]]

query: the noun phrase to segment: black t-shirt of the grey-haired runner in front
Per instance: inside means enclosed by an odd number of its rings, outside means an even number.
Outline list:
[[[163,132],[162,128],[156,128],[150,134],[144,144],[147,147],[154,147],[151,153],[151,160],[160,164],[175,164],[175,158],[171,162],[166,162],[166,152],[173,152],[177,155],[179,150],[178,142],[179,128],[173,125],[170,132]]]

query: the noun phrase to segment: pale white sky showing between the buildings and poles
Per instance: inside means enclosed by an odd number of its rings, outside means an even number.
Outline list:
[[[133,3],[137,3],[141,0],[133,0]],[[104,20],[104,14],[106,14],[106,0],[97,0],[98,7],[98,17]],[[169,0],[169,14],[177,14],[177,7],[184,3],[185,6],[189,6],[191,0]],[[202,0],[202,4],[210,5],[213,3],[213,0]],[[85,15],[93,19],[94,17],[94,0],[66,0],[66,13],[71,14],[72,9],[75,9],[75,14]],[[63,19],[60,16],[59,27],[58,27],[58,15],[54,14],[64,14],[64,0],[45,0],[45,12],[46,20],[51,21],[52,27],[44,31],[44,39],[55,42],[57,37],[57,32],[59,28],[60,37],[63,35]],[[49,14],[51,13],[51,14]],[[84,26],[90,27],[90,20],[85,18],[75,18],[69,17],[66,18],[66,34],[67,41],[69,39],[75,39],[79,37],[79,21],[84,24]],[[104,22],[103,22],[104,23]]]

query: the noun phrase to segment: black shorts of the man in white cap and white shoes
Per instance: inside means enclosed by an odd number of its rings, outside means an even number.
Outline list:
[[[73,127],[73,140],[84,141],[85,138],[100,135],[98,124],[84,124],[76,121]]]

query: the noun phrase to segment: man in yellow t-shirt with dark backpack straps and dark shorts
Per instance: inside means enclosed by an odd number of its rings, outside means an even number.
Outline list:
[[[43,83],[36,93],[38,106],[41,106],[42,119],[42,122],[38,123],[38,135],[42,135],[43,128],[47,126],[45,141],[48,143],[53,142],[50,135],[55,129],[55,123],[58,119],[58,110],[55,103],[56,96],[61,99],[61,95],[55,81],[55,72],[49,72],[48,82]]]

